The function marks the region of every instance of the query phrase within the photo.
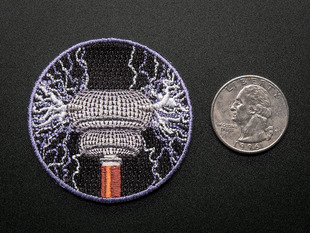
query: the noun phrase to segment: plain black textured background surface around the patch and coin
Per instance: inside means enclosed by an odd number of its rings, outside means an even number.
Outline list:
[[[1,232],[310,232],[310,2],[9,1],[0,3]],[[99,204],[62,189],[28,136],[29,98],[43,69],[72,45],[130,39],[178,70],[193,106],[190,147],[160,189]],[[233,152],[216,137],[219,88],[245,74],[285,94],[288,129],[272,149]]]

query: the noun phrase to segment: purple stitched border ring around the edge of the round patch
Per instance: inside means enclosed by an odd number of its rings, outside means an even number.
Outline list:
[[[178,161],[178,163],[174,166],[174,168],[165,176],[165,178],[163,178],[161,181],[159,181],[156,185],[154,186],[149,186],[148,189],[145,189],[139,193],[135,193],[129,196],[124,196],[124,197],[119,197],[119,198],[100,198],[100,197],[96,197],[93,195],[89,195],[89,194],[85,194],[82,193],[74,188],[72,188],[71,186],[67,185],[66,183],[64,183],[62,180],[60,180],[57,176],[54,175],[54,173],[47,167],[47,165],[45,164],[45,162],[42,160],[40,153],[37,149],[37,146],[35,144],[34,141],[34,137],[33,137],[33,133],[32,133],[32,117],[31,117],[31,111],[32,111],[32,105],[33,105],[33,99],[34,99],[34,94],[37,90],[38,84],[41,81],[41,79],[44,77],[44,75],[47,73],[47,71],[50,69],[50,67],[57,61],[59,60],[61,57],[63,57],[66,53],[82,47],[82,46],[86,46],[86,45],[90,45],[93,43],[100,43],[100,42],[119,42],[119,43],[126,43],[132,46],[138,46],[141,47],[145,50],[147,50],[148,52],[150,52],[151,54],[153,54],[154,56],[160,58],[165,64],[167,64],[169,66],[169,68],[176,74],[176,76],[179,78],[182,87],[186,93],[186,98],[188,101],[188,106],[189,106],[189,112],[190,112],[190,121],[189,121],[189,131],[188,131],[188,140],[186,142],[186,145],[184,147],[183,153]],[[185,157],[185,154],[187,152],[190,140],[191,140],[191,134],[192,134],[192,122],[193,122],[193,114],[192,114],[192,105],[190,102],[190,98],[189,98],[189,94],[188,94],[188,90],[186,88],[186,86],[184,85],[184,82],[181,78],[181,76],[179,75],[179,73],[176,71],[176,69],[170,64],[170,62],[168,62],[165,58],[163,58],[160,54],[158,54],[157,52],[153,51],[152,49],[148,48],[145,45],[141,45],[137,42],[133,42],[131,40],[123,40],[123,39],[117,39],[117,38],[102,38],[102,39],[95,39],[95,40],[88,40],[88,41],[84,41],[81,43],[78,43],[72,47],[70,47],[69,49],[65,50],[64,52],[62,52],[61,54],[59,54],[52,62],[50,62],[50,64],[43,70],[43,72],[41,73],[39,79],[37,80],[33,90],[32,90],[32,94],[31,94],[31,99],[30,99],[30,104],[28,106],[28,114],[29,114],[29,119],[28,119],[28,128],[29,128],[29,134],[31,137],[31,142],[32,142],[32,146],[34,147],[35,153],[39,159],[39,161],[41,162],[41,164],[43,165],[44,169],[48,172],[48,174],[57,181],[57,183],[64,189],[70,191],[71,193],[88,199],[88,200],[92,200],[92,201],[96,201],[96,202],[100,202],[100,203],[117,203],[117,202],[125,202],[125,201],[130,201],[133,199],[136,199],[138,197],[141,196],[145,196],[147,194],[149,194],[150,192],[154,191],[155,189],[157,189],[159,186],[161,186],[163,183],[165,183],[171,176],[172,174],[180,167],[180,164],[182,163],[182,160]]]

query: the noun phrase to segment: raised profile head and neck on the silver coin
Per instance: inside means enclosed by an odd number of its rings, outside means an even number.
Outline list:
[[[230,110],[232,120],[239,126],[238,141],[258,143],[270,140],[273,126],[270,123],[271,102],[268,92],[258,85],[245,86],[237,95]]]

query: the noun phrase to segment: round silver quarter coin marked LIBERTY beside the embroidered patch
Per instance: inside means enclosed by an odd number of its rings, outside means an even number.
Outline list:
[[[288,112],[279,87],[266,78],[244,75],[218,91],[211,120],[225,145],[238,152],[257,153],[279,141],[288,124]]]

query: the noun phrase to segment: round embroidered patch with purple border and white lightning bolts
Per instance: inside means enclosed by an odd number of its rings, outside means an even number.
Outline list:
[[[48,173],[90,200],[149,193],[177,169],[192,124],[186,87],[158,53],[126,40],[83,42],[42,72],[29,131]]]

